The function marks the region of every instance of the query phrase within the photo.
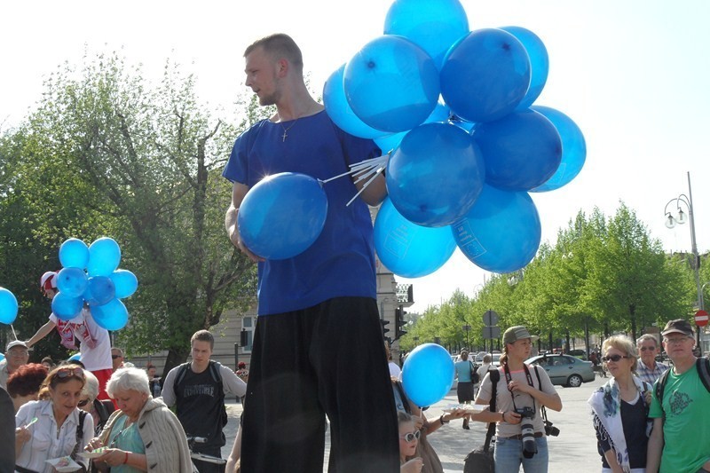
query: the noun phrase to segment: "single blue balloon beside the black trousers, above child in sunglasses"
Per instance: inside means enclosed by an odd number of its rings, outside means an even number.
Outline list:
[[[436,343],[424,343],[406,357],[402,386],[416,406],[431,406],[443,399],[454,384],[454,361]]]

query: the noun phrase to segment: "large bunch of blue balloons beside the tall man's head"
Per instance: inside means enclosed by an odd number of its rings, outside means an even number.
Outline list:
[[[459,0],[396,0],[384,35],[330,75],[327,114],[390,152],[375,221],[390,271],[429,274],[456,245],[491,272],[533,259],[541,230],[529,193],[569,183],[586,158],[577,125],[533,105],[547,78],[537,35],[470,31]]]

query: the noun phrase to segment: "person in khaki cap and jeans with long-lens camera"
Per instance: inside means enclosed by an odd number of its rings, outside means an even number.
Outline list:
[[[537,336],[530,335],[523,326],[510,327],[503,334],[501,367],[491,373],[499,374],[496,383],[496,412],[485,410],[472,414],[471,419],[479,422],[497,422],[496,443],[493,456],[496,471],[518,471],[522,464],[525,473],[548,471],[548,439],[540,408],[545,406],[554,411],[562,410],[560,399],[544,369],[525,365],[530,358],[533,342]],[[491,373],[485,374],[478,390],[476,404],[489,404],[493,396]],[[520,423],[525,408],[534,413],[525,422],[533,424],[534,452],[524,450]],[[527,448],[527,447],[526,447]]]

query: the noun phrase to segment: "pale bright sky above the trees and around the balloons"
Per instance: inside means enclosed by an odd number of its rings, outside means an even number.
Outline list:
[[[400,0],[401,1],[401,0]],[[431,0],[435,1],[435,0]],[[337,67],[383,34],[388,0],[260,2],[34,1],[4,5],[0,28],[0,129],[11,129],[41,99],[43,80],[88,51],[120,51],[157,81],[166,59],[194,73],[203,103],[233,111],[244,86],[242,52],[259,37],[291,35],[319,91]],[[570,184],[534,193],[542,240],[554,243],[580,210],[611,217],[623,201],[667,251],[690,251],[690,225],[668,230],[667,202],[689,193],[698,250],[710,248],[710,2],[706,0],[461,0],[469,28],[518,26],[548,50],[548,82],[536,105],[576,122],[587,162]],[[456,250],[437,272],[415,280],[424,311],[458,288],[473,296],[490,273]],[[701,281],[705,282],[705,281]]]

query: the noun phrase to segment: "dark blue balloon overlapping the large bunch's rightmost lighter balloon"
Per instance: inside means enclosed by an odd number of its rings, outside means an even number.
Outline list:
[[[543,184],[562,159],[555,125],[531,110],[479,123],[473,138],[485,161],[486,184],[509,191],[528,191]]]

